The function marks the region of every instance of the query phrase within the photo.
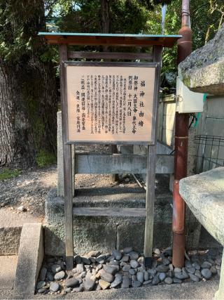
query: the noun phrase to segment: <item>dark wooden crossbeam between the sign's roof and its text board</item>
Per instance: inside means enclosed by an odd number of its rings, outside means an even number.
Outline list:
[[[68,58],[87,58],[87,59],[122,59],[122,60],[153,60],[151,53],[126,53],[126,52],[87,52],[69,51]]]

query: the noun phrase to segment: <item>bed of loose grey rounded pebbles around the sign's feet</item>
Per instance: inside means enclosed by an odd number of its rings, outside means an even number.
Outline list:
[[[46,256],[36,283],[36,293],[69,294],[100,289],[200,282],[220,276],[221,250],[188,253],[185,267],[174,268],[172,248],[153,250],[153,266],[145,268],[144,256],[132,247],[101,254],[74,256],[74,268],[66,271],[63,258]]]

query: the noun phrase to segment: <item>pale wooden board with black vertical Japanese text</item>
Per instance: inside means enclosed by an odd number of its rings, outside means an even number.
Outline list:
[[[155,63],[64,63],[67,143],[155,143]]]

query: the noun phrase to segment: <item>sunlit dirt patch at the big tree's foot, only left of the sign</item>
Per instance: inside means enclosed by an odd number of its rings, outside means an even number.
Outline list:
[[[56,166],[23,170],[17,177],[0,181],[0,209],[43,218],[45,197],[56,185]]]

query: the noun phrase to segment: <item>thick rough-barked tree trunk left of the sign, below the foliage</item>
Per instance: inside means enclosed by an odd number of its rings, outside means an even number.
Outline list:
[[[27,166],[56,152],[57,89],[51,64],[35,56],[0,65],[0,165]]]

